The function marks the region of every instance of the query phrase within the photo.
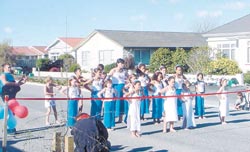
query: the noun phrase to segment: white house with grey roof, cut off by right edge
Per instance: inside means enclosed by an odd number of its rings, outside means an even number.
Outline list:
[[[238,62],[243,72],[250,71],[250,14],[219,26],[205,34],[212,55],[221,55]]]

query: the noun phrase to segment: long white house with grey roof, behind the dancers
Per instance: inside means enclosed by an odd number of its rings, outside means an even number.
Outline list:
[[[206,45],[198,33],[95,30],[76,48],[77,62],[85,70],[97,64],[111,64],[128,55],[135,63],[149,64],[151,54],[158,48],[184,48]]]

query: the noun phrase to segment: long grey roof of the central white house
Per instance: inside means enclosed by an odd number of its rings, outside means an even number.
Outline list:
[[[200,33],[96,30],[124,47],[198,47],[207,45]]]

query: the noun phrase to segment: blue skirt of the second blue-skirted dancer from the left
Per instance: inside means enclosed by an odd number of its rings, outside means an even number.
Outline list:
[[[93,91],[91,93],[92,98],[98,98],[97,96],[98,91]],[[102,100],[91,100],[91,109],[90,115],[98,120],[101,119],[101,112],[102,112]]]

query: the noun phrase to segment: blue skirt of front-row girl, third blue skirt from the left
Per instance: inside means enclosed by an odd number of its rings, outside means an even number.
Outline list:
[[[106,128],[115,127],[115,102],[105,101],[103,111],[103,124]]]

